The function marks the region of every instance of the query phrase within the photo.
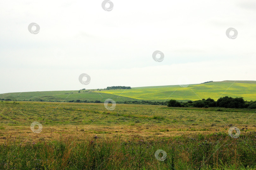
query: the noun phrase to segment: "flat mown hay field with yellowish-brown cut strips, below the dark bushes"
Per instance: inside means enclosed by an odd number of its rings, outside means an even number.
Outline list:
[[[227,127],[221,126],[229,124],[238,128],[247,125],[251,131],[256,128],[253,110],[211,110],[117,104],[113,111],[109,111],[103,103],[3,101],[0,102],[0,142],[4,143],[10,135],[20,142],[49,140],[59,135],[76,136],[78,133],[108,137],[119,134],[124,140],[129,137],[153,140],[183,133],[227,132]],[[43,126],[38,134],[30,129],[34,121]]]

